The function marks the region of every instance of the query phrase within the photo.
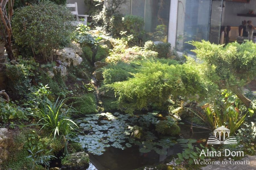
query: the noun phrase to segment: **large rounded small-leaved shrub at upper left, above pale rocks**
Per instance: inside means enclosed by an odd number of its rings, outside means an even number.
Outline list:
[[[71,12],[61,5],[41,1],[15,11],[12,20],[15,42],[31,48],[34,55],[42,55],[45,61],[52,61],[52,49],[69,42],[71,33]]]

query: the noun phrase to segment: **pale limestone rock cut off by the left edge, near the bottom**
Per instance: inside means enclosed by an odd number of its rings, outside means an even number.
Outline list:
[[[12,135],[7,128],[0,128],[0,164],[8,159],[9,150],[13,145]]]

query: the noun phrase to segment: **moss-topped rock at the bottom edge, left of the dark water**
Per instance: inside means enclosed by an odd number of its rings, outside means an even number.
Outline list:
[[[86,169],[89,166],[89,156],[85,152],[69,154],[61,159],[61,169]]]

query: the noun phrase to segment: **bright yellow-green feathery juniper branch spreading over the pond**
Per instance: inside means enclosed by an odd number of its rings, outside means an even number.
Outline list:
[[[142,109],[149,103],[161,105],[171,95],[173,100],[178,96],[204,99],[216,92],[214,76],[211,75],[211,67],[196,63],[193,59],[183,65],[145,61],[139,72],[133,74],[133,78],[115,82],[107,87],[113,88],[119,101],[128,101],[134,104],[134,109]],[[129,108],[131,109],[131,106]]]

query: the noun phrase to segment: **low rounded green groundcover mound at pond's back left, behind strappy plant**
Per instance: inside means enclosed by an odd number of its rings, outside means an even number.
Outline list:
[[[74,107],[82,114],[97,113],[95,95],[92,93],[84,94],[75,99]]]

